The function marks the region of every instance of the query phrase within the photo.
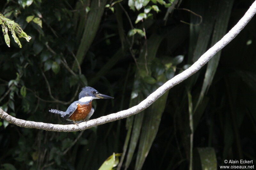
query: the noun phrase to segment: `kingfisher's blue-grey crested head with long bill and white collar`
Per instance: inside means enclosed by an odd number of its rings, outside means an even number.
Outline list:
[[[79,101],[87,102],[93,99],[113,99],[113,97],[107,96],[105,94],[99,93],[92,87],[83,87],[78,97]]]

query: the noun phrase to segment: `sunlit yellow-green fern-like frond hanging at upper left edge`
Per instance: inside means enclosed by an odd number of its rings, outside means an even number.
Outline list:
[[[2,31],[4,34],[4,41],[6,42],[7,46],[10,47],[10,37],[8,35],[8,30],[11,31],[12,37],[14,41],[19,45],[21,48],[21,43],[19,38],[25,38],[27,41],[31,39],[20,27],[19,24],[15,23],[13,20],[5,18],[3,14],[0,13],[0,25],[2,25]],[[16,33],[18,37],[16,36]]]

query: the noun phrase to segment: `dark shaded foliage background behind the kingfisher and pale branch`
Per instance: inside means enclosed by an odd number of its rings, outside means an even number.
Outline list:
[[[10,35],[8,48],[0,36],[1,108],[24,120],[63,123],[48,110],[65,110],[89,85],[115,97],[94,101],[92,118],[127,109],[188,68],[253,1],[170,2],[2,1],[0,12],[32,39],[20,39],[19,48]],[[143,22],[135,24],[138,15]],[[37,19],[28,23],[29,16]],[[255,23],[254,17],[200,72],[126,120],[72,133],[1,120],[0,168],[98,169],[113,152],[123,153],[122,169],[216,169],[228,165],[225,159],[255,164]]]

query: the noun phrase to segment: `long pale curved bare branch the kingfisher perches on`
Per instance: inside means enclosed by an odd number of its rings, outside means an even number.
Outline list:
[[[167,81],[164,85],[159,87],[155,92],[151,93],[145,100],[140,102],[137,106],[133,106],[127,110],[123,110],[107,116],[102,116],[97,119],[92,119],[87,122],[82,122],[78,125],[60,125],[43,122],[25,121],[8,115],[2,109],[0,109],[0,118],[17,126],[25,128],[36,128],[59,132],[72,132],[89,129],[94,126],[98,126],[108,122],[113,122],[119,119],[126,118],[128,116],[135,115],[149,107],[152,103],[154,103],[159,97],[161,97],[166,91],[171,89],[173,86],[179,84],[183,80],[187,79],[188,77],[196,73],[199,69],[201,69],[204,66],[204,64],[206,64],[218,51],[225,47],[231,40],[233,40],[236,37],[238,33],[240,33],[240,31],[252,19],[255,13],[256,1],[254,1],[252,6],[245,13],[245,15],[238,21],[238,23],[220,41],[218,41],[214,46],[212,46],[212,48],[206,51],[193,65],[191,65],[191,67],[189,67],[182,73],[178,74],[177,76],[173,77],[171,80]]]

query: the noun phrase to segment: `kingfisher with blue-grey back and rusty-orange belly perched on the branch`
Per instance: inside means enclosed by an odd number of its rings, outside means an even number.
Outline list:
[[[92,108],[93,99],[113,99],[113,97],[101,94],[94,88],[86,86],[79,93],[78,100],[69,105],[66,112],[56,109],[51,109],[49,112],[59,114],[65,120],[77,124],[88,120],[92,116],[94,112]]]

